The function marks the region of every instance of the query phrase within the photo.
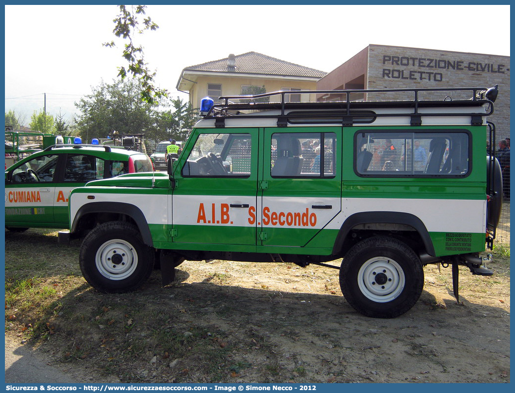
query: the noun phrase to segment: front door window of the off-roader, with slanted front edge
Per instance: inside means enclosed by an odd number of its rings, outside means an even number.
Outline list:
[[[200,134],[181,174],[184,177],[249,177],[250,134]]]

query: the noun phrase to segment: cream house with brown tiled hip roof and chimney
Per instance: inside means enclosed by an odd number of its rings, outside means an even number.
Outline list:
[[[188,93],[194,108],[199,108],[200,100],[207,96],[216,101],[220,96],[315,90],[325,75],[318,69],[247,52],[184,68],[177,90]],[[295,94],[289,97],[291,101],[300,99]],[[303,99],[315,101],[315,96]]]

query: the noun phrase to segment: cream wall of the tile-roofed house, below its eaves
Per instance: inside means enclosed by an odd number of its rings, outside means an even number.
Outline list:
[[[200,107],[200,100],[208,95],[208,83],[217,83],[222,85],[222,96],[237,96],[242,92],[242,85],[265,86],[267,93],[277,92],[283,87],[295,87],[302,90],[316,90],[316,80],[303,81],[289,78],[252,78],[237,76],[218,76],[208,75],[199,76],[197,83],[194,84],[190,91],[190,102],[194,108]],[[311,96],[311,95],[310,95]],[[276,97],[273,97],[276,98]],[[273,101],[280,100],[280,96]],[[307,100],[307,98],[303,98]],[[311,97],[311,101],[315,101],[315,97]]]

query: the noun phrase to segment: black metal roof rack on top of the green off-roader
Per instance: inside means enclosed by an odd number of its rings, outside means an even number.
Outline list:
[[[449,92],[460,92],[458,95],[467,98],[453,99]],[[288,123],[299,123],[301,119],[330,119],[331,123],[341,123],[344,126],[352,126],[353,123],[373,122],[376,117],[410,116],[411,125],[420,126],[422,116],[471,116],[471,124],[483,124],[482,117],[493,113],[493,101],[497,96],[497,85],[491,88],[486,87],[445,87],[445,88],[395,88],[395,89],[374,89],[374,90],[323,90],[323,91],[279,91],[273,93],[258,94],[254,96],[223,96],[219,97],[222,102],[214,104],[207,112],[204,119],[215,119],[215,127],[225,127],[224,119],[237,116],[238,118],[255,118],[256,111],[261,112],[260,118],[277,118],[278,127],[286,127]],[[445,93],[443,98],[433,99],[438,93]],[[288,102],[291,95],[312,95],[317,97],[333,95],[342,97],[335,101],[316,102]],[[368,95],[390,96],[390,99],[377,101],[352,101],[351,95],[362,95],[364,99]],[[395,95],[413,95],[411,99],[394,100]],[[280,97],[278,102],[270,102],[271,97]],[[422,99],[422,98],[425,99]],[[238,100],[239,102],[234,102]],[[263,102],[266,101],[266,102]],[[488,110],[483,113],[474,112],[441,112],[424,111],[419,108],[442,108],[442,107],[467,107],[483,106],[487,104]],[[389,113],[375,113],[372,108],[409,108],[411,111],[390,111]],[[361,109],[361,110],[360,110]],[[364,110],[366,109],[366,110]],[[266,114],[264,111],[279,111],[275,114]],[[245,113],[242,111],[252,111]],[[292,122],[295,118],[298,121]]]

